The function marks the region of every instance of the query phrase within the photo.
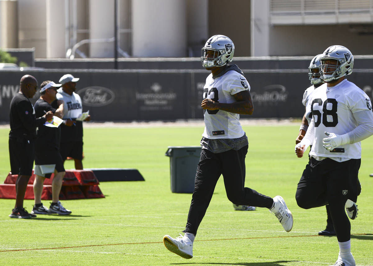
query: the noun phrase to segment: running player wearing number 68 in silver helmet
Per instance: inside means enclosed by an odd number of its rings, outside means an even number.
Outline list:
[[[334,265],[355,266],[348,217],[355,219],[357,215],[360,142],[373,134],[372,104],[360,88],[346,79],[354,66],[350,50],[332,45],[320,61],[325,84],[313,92],[309,101],[313,117],[304,138],[295,146],[295,153],[302,157],[312,145],[295,198],[304,209],[329,204],[339,244]]]

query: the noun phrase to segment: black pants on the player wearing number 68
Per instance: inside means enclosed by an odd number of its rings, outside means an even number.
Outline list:
[[[350,240],[351,224],[345,213],[347,199],[356,202],[357,174],[361,159],[336,162],[330,158],[310,161],[298,183],[295,199],[299,207],[310,209],[329,204],[339,242]]]

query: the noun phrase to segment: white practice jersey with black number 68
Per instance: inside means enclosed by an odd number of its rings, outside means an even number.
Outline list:
[[[333,87],[326,83],[316,88],[311,101],[314,127],[314,142],[310,155],[317,157],[347,159],[361,158],[361,143],[345,144],[329,151],[323,147],[324,132],[343,135],[354,130],[358,123],[354,114],[372,110],[368,95],[354,83],[344,79]]]

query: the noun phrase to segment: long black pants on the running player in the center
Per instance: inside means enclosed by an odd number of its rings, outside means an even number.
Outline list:
[[[189,208],[188,221],[185,230],[197,234],[203,216],[210,204],[214,189],[223,175],[225,191],[228,199],[236,205],[248,205],[271,208],[273,199],[264,196],[245,185],[245,156],[248,146],[238,151],[229,150],[221,153],[213,153],[202,149],[200,162],[195,175],[192,202]]]

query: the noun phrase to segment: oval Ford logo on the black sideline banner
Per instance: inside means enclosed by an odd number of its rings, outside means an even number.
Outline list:
[[[76,93],[81,96],[84,105],[93,107],[108,105],[115,99],[111,89],[100,86],[83,88]]]

